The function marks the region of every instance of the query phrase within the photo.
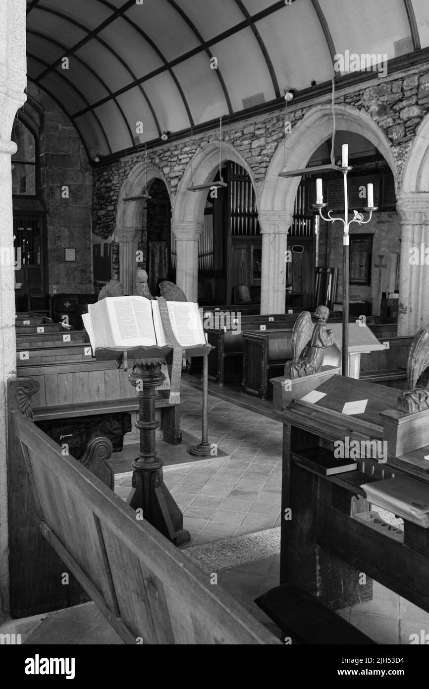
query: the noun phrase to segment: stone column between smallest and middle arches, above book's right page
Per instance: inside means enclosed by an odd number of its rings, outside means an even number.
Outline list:
[[[176,237],[176,285],[185,292],[188,301],[198,300],[198,240],[202,223],[173,223]]]

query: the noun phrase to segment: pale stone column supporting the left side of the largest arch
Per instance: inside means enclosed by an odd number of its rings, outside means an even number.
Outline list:
[[[287,234],[292,220],[293,215],[286,211],[259,214],[262,234],[261,313],[284,313]]]

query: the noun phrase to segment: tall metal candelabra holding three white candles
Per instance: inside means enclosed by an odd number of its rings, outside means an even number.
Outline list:
[[[347,175],[352,167],[341,167],[341,172],[344,176],[344,218],[333,218],[332,211],[328,211],[328,217],[322,213],[322,209],[326,208],[327,203],[315,203],[313,206],[319,211],[319,215],[326,223],[335,223],[339,220],[344,225],[343,235],[343,314],[342,314],[342,375],[348,376],[348,262],[350,256],[350,236],[348,229],[352,223],[358,225],[367,225],[370,222],[373,212],[377,210],[376,206],[366,207],[364,211],[369,213],[368,220],[364,220],[364,215],[354,211],[354,217],[348,219],[348,189],[347,189]]]

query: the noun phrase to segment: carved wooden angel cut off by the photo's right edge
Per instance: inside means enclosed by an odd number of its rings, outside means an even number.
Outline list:
[[[421,328],[410,347],[407,365],[408,390],[398,398],[399,411],[429,409],[429,326]]]

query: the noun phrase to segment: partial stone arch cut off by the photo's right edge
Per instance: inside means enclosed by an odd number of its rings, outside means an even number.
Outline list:
[[[429,114],[419,125],[404,165],[401,192],[429,192]]]

